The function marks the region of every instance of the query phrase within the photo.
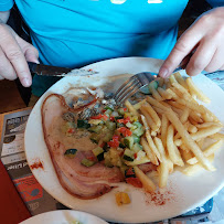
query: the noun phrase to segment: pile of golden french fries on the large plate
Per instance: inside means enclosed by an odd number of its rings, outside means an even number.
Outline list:
[[[157,177],[159,188],[166,188],[169,174],[175,167],[186,175],[202,169],[215,171],[212,162],[224,142],[224,134],[220,132],[223,125],[212,111],[195,100],[210,103],[209,97],[193,84],[192,78],[184,79],[180,73],[164,81],[160,78],[158,89],[152,86],[150,90],[151,96],[146,96],[134,106],[128,105],[143,124],[145,135],[140,143],[146,157],[138,162],[127,161],[126,164],[134,167],[143,188],[149,192],[156,190],[149,177]],[[205,142],[207,139],[213,141],[209,147]],[[145,161],[157,164],[157,171],[146,175],[137,167]]]

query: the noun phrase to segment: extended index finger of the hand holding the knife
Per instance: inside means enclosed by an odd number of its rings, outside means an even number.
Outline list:
[[[24,54],[21,51],[15,39],[6,29],[1,30],[1,49],[13,66],[20,82],[24,87],[29,87],[32,83],[31,74],[25,61]]]

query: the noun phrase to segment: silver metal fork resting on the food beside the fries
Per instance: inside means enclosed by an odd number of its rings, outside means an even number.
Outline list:
[[[173,73],[177,73],[178,71],[183,70],[182,67],[177,67]],[[154,75],[153,75],[154,74]],[[131,76],[128,81],[126,81],[115,93],[114,99],[118,104],[122,104],[127,98],[131,97],[134,94],[136,94],[141,88],[146,87],[157,78],[156,73],[150,72],[142,72],[137,73],[136,75]]]

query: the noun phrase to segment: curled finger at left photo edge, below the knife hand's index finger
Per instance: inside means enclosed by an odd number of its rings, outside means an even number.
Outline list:
[[[17,74],[14,68],[12,67],[9,60],[6,57],[6,54],[3,53],[2,49],[0,47],[0,76],[10,81],[13,81],[17,78]]]

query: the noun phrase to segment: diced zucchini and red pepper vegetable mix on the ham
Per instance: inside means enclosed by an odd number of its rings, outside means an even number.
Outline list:
[[[83,166],[92,167],[102,162],[106,167],[118,167],[126,182],[138,188],[142,186],[131,168],[131,166],[148,162],[140,145],[140,137],[145,130],[138,116],[132,115],[126,107],[117,108],[109,105],[88,119],[70,120],[66,125],[67,135],[72,135],[75,128],[87,131],[89,139],[96,145],[93,149],[94,157],[83,159],[81,161]],[[76,149],[67,149],[64,156],[74,158],[76,151]]]

